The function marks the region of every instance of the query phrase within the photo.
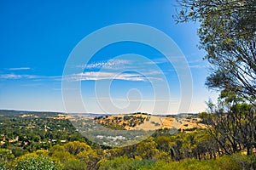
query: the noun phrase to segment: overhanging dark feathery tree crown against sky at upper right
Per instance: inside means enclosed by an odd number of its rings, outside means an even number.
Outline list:
[[[177,22],[198,21],[200,48],[212,64],[209,88],[256,99],[256,1],[181,0]]]

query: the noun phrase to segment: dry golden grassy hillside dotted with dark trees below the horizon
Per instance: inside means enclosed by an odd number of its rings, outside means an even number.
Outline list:
[[[155,130],[175,127],[181,132],[192,132],[207,128],[196,114],[182,116],[154,116],[148,114],[127,114],[113,116],[96,116],[95,121],[105,127],[125,130]]]

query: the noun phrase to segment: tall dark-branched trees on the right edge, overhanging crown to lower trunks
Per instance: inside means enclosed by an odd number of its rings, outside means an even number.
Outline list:
[[[177,22],[200,24],[200,48],[212,65],[208,88],[220,92],[201,116],[224,154],[256,148],[255,0],[181,0]]]

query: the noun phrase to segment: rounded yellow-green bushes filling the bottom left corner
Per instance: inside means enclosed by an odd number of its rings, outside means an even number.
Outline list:
[[[79,141],[56,144],[49,150],[36,150],[18,157],[12,154],[12,150],[0,149],[3,162],[0,169],[95,169],[91,163],[95,153],[96,150]],[[100,156],[96,158],[97,162]]]

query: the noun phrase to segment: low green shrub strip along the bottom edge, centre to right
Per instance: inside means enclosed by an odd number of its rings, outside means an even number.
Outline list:
[[[136,170],[136,169],[166,169],[166,170],[241,170],[241,169],[253,169],[253,160],[255,156],[244,156],[241,154],[235,154],[232,156],[222,156],[216,160],[195,160],[186,159],[183,161],[152,161],[141,160],[138,158],[132,159],[126,156],[117,157],[110,161],[103,161],[99,169],[107,170]]]

